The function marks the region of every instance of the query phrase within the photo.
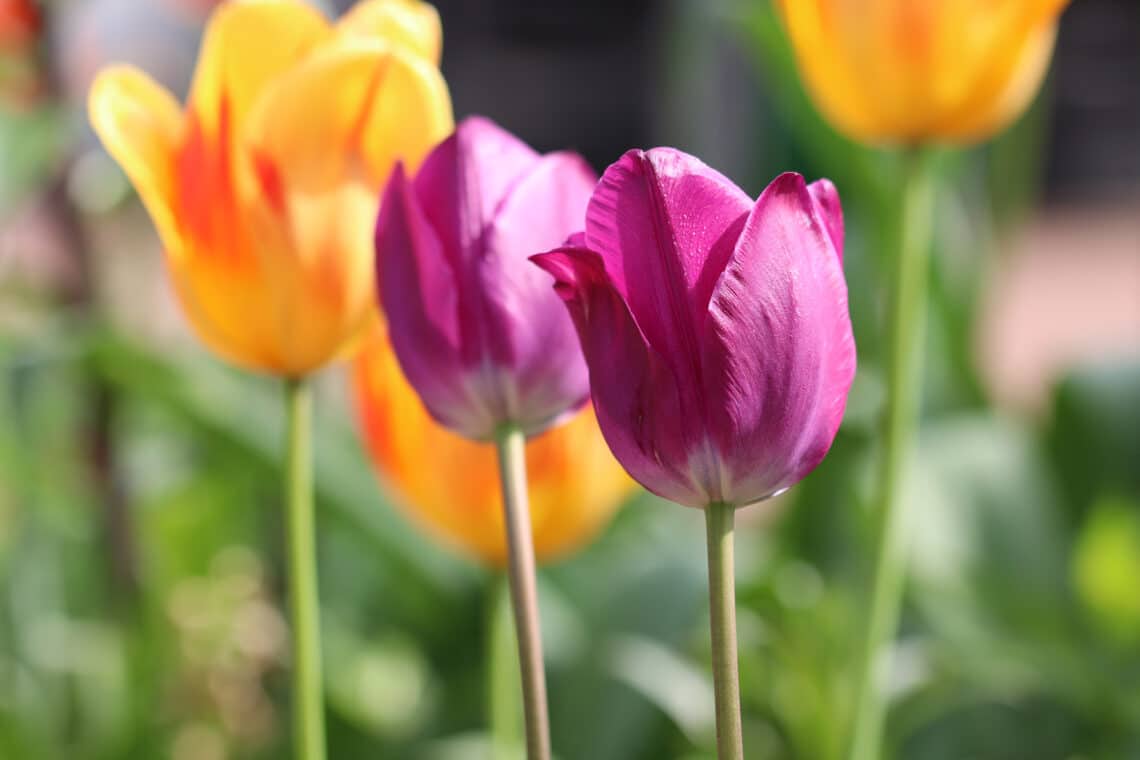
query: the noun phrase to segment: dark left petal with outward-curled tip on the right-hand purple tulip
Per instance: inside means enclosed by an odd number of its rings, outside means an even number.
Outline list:
[[[638,329],[602,256],[557,248],[531,258],[554,276],[589,365],[594,409],[610,450],[634,480],[677,504],[707,496],[676,467],[689,457],[677,382]]]

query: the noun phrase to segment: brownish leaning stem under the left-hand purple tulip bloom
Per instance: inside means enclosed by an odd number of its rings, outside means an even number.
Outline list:
[[[543,636],[538,620],[530,505],[527,499],[527,440],[519,428],[505,426],[496,436],[495,444],[498,449],[499,479],[503,484],[511,605],[519,637],[527,757],[530,760],[549,760],[551,729],[549,718],[546,714],[546,672],[543,665]]]

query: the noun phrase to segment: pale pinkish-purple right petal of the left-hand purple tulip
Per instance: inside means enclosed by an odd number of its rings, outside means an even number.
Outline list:
[[[554,424],[589,397],[573,322],[551,292],[549,278],[526,259],[557,246],[565,230],[583,224],[596,182],[580,156],[543,156],[502,202],[487,230],[478,263],[487,348],[495,361],[514,368],[518,398],[507,407],[516,419]]]

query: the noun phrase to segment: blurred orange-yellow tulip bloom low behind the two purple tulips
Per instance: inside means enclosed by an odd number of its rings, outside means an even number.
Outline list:
[[[445,542],[503,566],[495,447],[461,438],[427,415],[382,330],[356,359],[353,384],[365,439],[397,504]],[[635,489],[589,407],[527,443],[527,477],[535,553],[547,561],[592,539]]]

